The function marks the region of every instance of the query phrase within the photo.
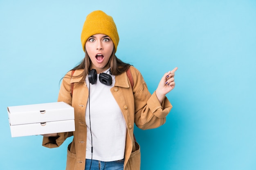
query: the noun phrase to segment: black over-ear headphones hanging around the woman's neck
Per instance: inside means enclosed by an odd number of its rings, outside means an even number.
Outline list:
[[[100,73],[99,74],[99,81],[104,85],[112,85],[112,77],[111,71],[109,70],[110,74],[107,73]],[[97,82],[97,71],[92,69],[88,73],[89,82],[94,85]]]

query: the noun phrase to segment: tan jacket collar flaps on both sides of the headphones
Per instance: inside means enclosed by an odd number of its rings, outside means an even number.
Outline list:
[[[81,81],[82,77],[76,77],[76,76],[79,76],[80,74],[82,74],[82,72],[83,70],[76,70],[70,80],[70,83],[78,83],[79,81]],[[123,72],[122,74],[115,76],[115,79],[116,79],[115,86],[124,87],[124,88],[130,87],[126,72]]]

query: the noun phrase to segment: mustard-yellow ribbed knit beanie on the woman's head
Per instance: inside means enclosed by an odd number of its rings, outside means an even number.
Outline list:
[[[119,42],[117,26],[113,18],[104,13],[103,11],[93,11],[86,17],[81,33],[81,43],[84,52],[85,42],[90,36],[95,34],[108,35],[114,43],[115,52],[117,51],[117,45]]]

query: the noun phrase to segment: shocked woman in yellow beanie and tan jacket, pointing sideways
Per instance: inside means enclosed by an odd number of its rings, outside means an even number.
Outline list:
[[[172,108],[165,95],[175,87],[177,68],[164,74],[151,95],[140,72],[115,56],[117,28],[103,11],[86,17],[81,42],[85,58],[63,78],[58,96],[74,107],[76,130],[44,135],[43,146],[55,148],[74,136],[67,170],[139,170],[134,123],[140,129],[165,123]]]

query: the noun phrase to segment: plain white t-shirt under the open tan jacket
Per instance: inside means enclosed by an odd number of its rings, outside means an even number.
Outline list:
[[[90,98],[88,98],[85,112],[87,125],[86,159],[117,161],[124,158],[127,128],[121,109],[110,92],[110,88],[115,85],[115,76],[111,76],[112,85],[110,86],[99,81],[99,74],[97,74],[97,83],[90,84],[90,87],[88,77],[85,79],[88,88],[90,88]],[[91,146],[93,146],[93,153],[91,153]]]

